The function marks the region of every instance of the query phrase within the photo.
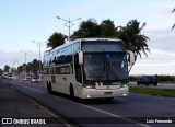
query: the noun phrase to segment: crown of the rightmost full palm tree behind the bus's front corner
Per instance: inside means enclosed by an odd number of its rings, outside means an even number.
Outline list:
[[[124,41],[127,50],[135,53],[136,58],[138,55],[141,58],[141,51],[148,57],[147,51],[150,51],[147,44],[149,37],[141,34],[141,31],[145,25],[147,24],[143,23],[140,26],[140,22],[131,20],[127,23],[127,26],[119,27],[118,38]]]

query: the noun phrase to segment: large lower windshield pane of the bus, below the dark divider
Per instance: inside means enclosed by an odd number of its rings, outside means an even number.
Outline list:
[[[105,81],[128,78],[125,53],[84,53],[85,80]]]

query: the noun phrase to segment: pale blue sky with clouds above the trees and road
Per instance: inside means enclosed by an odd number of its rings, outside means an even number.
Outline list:
[[[46,42],[55,32],[68,35],[65,21],[74,21],[71,34],[82,21],[95,19],[98,23],[110,19],[116,26],[130,20],[147,23],[141,34],[148,36],[151,54],[138,57],[130,74],[175,74],[174,0],[0,0],[0,68],[18,67],[39,59]],[[36,43],[33,43],[35,41]]]

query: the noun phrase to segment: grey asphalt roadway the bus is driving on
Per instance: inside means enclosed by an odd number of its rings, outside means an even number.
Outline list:
[[[7,82],[34,101],[80,126],[175,126],[175,124],[168,123],[160,124],[161,120],[175,123],[175,99],[130,93],[128,97],[116,97],[112,103],[107,103],[105,100],[78,100],[78,102],[72,102],[67,95],[48,94],[44,84],[21,80],[8,80]]]

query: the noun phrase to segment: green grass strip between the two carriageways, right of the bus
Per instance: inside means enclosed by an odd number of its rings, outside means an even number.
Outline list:
[[[175,90],[173,89],[153,89],[153,88],[130,86],[129,92],[165,96],[165,97],[175,97]]]

